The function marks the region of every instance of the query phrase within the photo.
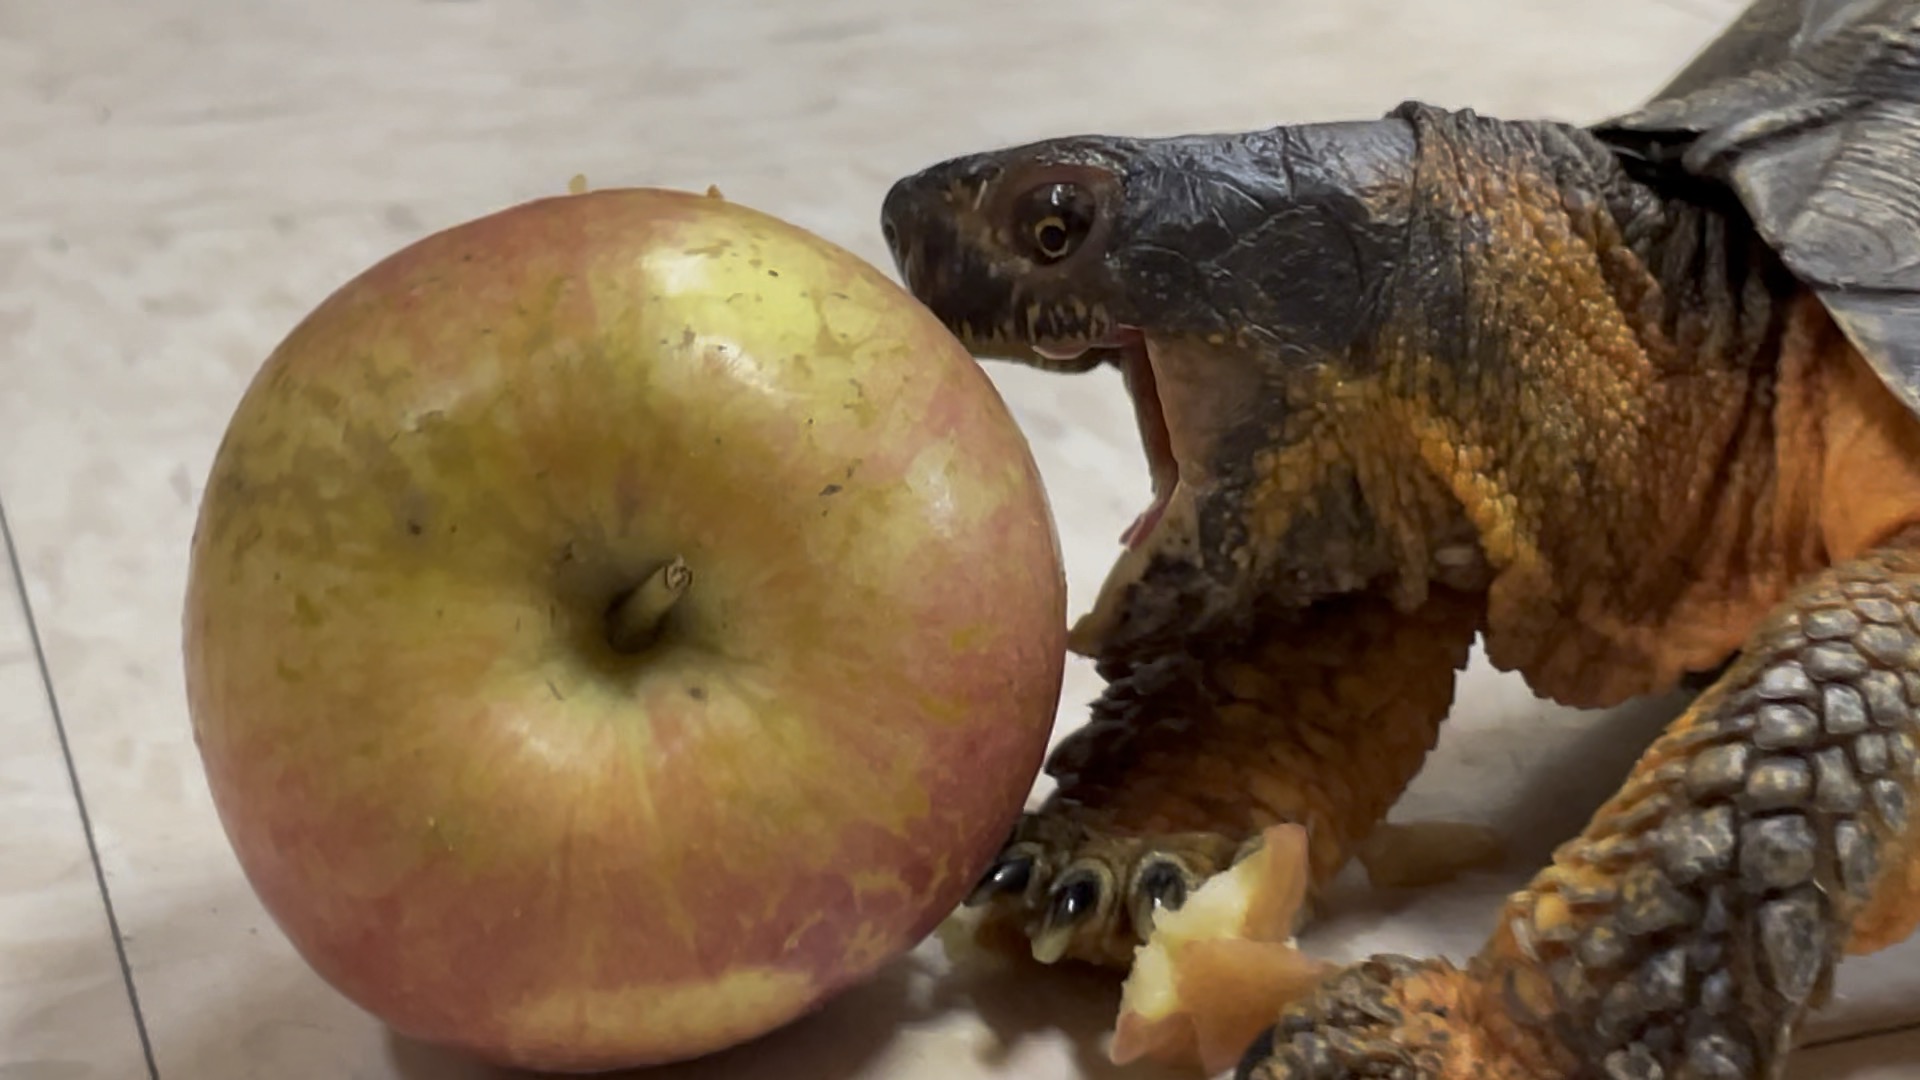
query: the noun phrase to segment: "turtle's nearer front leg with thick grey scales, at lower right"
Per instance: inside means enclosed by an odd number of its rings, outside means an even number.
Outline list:
[[[1465,969],[1377,957],[1240,1080],[1776,1078],[1845,953],[1920,920],[1920,536],[1807,580]]]

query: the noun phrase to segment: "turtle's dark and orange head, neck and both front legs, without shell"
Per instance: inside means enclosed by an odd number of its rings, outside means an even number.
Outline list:
[[[1336,869],[1473,632],[1571,705],[1718,675],[1480,955],[1332,976],[1242,1076],[1772,1078],[1841,953],[1912,932],[1920,421],[1728,200],[1404,106],[962,158],[885,223],[975,354],[1125,365],[1179,467],[977,894],[1037,955],[1125,965],[1275,819]]]

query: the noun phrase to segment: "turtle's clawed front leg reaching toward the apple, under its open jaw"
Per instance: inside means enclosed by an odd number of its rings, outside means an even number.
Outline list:
[[[1432,749],[1480,625],[1478,598],[1417,611],[1348,598],[1225,653],[1110,675],[1048,759],[973,903],[1043,961],[1127,967],[1156,905],[1179,905],[1265,826],[1309,834],[1325,882]]]

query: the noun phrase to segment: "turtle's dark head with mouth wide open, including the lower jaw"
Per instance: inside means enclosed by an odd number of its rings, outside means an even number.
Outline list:
[[[1413,129],[1388,117],[1054,138],[887,192],[902,281],[975,356],[1127,379],[1154,503],[1077,650],[1152,651],[1275,592],[1304,601],[1369,573],[1367,523],[1336,507],[1334,525],[1298,525],[1321,479],[1273,471],[1309,467],[1294,444],[1375,363],[1413,173]],[[1275,507],[1277,490],[1300,505]]]

